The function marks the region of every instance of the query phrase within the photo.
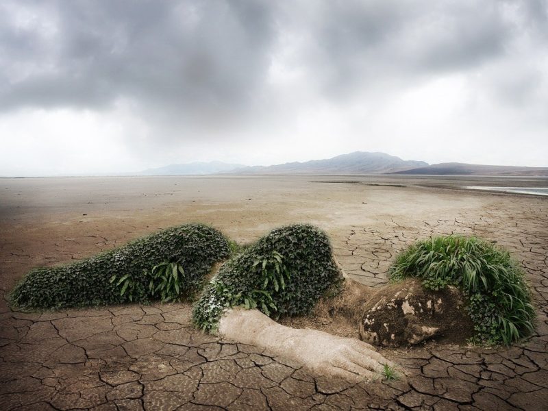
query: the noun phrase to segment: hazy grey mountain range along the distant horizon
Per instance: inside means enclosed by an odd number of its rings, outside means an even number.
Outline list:
[[[148,169],[140,175],[253,175],[253,174],[408,174],[408,175],[530,175],[548,176],[548,167],[486,166],[481,164],[441,163],[401,160],[386,153],[354,151],[324,160],[290,162],[272,166],[242,166],[224,162],[171,164]]]

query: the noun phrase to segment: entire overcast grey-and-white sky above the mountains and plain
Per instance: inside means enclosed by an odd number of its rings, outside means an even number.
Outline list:
[[[548,0],[3,0],[0,142],[0,175],[548,166]]]

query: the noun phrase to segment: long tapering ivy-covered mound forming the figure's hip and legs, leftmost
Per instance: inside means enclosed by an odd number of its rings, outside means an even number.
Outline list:
[[[227,239],[212,227],[173,227],[81,262],[34,269],[14,288],[12,304],[43,309],[146,302],[158,297],[158,286],[163,294],[175,284],[177,295],[191,295],[229,253]]]

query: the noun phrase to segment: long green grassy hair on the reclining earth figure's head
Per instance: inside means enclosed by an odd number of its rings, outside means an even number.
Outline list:
[[[423,240],[400,253],[388,271],[393,282],[423,279],[432,290],[454,285],[467,299],[477,343],[511,343],[532,334],[535,310],[525,275],[508,251],[475,237]]]

